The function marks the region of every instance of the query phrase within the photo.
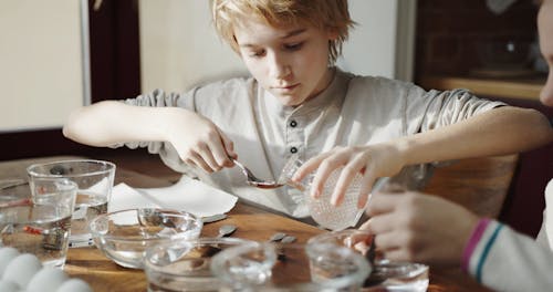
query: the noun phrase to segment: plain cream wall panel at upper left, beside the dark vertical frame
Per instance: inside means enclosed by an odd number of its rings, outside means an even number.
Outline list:
[[[0,132],[60,127],[84,102],[80,1],[0,0]]]

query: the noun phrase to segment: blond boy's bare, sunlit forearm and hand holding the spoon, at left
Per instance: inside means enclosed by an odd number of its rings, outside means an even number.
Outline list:
[[[180,107],[100,102],[74,111],[63,135],[91,146],[126,142],[168,142],[187,164],[215,171],[232,166],[230,142],[209,119]]]

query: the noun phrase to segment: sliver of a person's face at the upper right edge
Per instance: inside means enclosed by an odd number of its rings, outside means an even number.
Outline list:
[[[540,49],[549,64],[547,82],[542,88],[540,101],[547,106],[553,106],[553,0],[543,1],[538,15],[538,30],[540,32]]]

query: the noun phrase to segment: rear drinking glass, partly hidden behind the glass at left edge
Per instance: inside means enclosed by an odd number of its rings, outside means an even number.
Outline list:
[[[115,165],[103,160],[76,159],[36,164],[27,170],[30,177],[65,178],[77,185],[75,210],[71,221],[70,247],[94,244],[88,223],[96,216],[107,212]]]

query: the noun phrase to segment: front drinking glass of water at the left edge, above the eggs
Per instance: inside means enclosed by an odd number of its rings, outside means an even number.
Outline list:
[[[63,268],[76,184],[67,179],[31,177],[24,188],[28,196],[22,196],[23,187],[1,190],[0,247],[32,253],[44,267]]]

